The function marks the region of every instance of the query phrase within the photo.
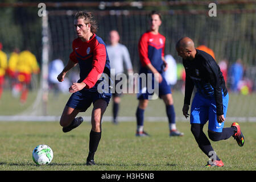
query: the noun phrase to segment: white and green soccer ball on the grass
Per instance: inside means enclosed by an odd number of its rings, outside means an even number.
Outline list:
[[[53,158],[53,151],[51,147],[46,144],[39,144],[32,152],[32,158],[38,165],[49,164]]]

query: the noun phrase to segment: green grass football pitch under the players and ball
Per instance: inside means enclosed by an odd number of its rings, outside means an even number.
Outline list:
[[[8,98],[8,93],[5,93]],[[133,96],[134,97],[134,96]],[[178,97],[178,96],[177,96]],[[175,98],[175,100],[177,99]],[[58,114],[68,96],[58,98]],[[131,97],[122,98],[121,115],[134,116],[137,102],[129,102]],[[62,103],[63,102],[63,103]],[[158,103],[160,104],[158,106]],[[176,103],[179,101],[175,101]],[[182,102],[181,102],[182,104]],[[6,102],[0,103],[3,110],[11,108]],[[149,104],[148,115],[164,113],[162,101]],[[17,106],[18,107],[18,106]],[[54,106],[52,106],[54,107]],[[179,112],[180,105],[176,105]],[[57,108],[57,107],[56,107]],[[154,111],[155,108],[155,111]],[[161,109],[162,108],[162,109]],[[152,110],[154,113],[152,113]],[[11,112],[11,111],[10,111]],[[3,113],[1,113],[3,114]],[[111,114],[111,104],[106,115]],[[130,115],[129,115],[130,114]],[[90,111],[81,115],[90,115]],[[165,115],[164,115],[165,116]],[[233,122],[233,121],[232,121]],[[229,127],[231,121],[226,122]],[[201,152],[190,131],[189,120],[177,121],[177,128],[184,137],[169,137],[167,122],[145,121],[145,130],[151,137],[135,137],[136,122],[102,122],[102,137],[94,160],[96,166],[86,166],[89,148],[90,122],[85,121],[77,129],[63,133],[59,122],[0,122],[0,170],[1,171],[201,171],[201,170],[247,170],[256,169],[256,123],[241,122],[245,145],[239,147],[236,140],[229,138],[212,142],[214,150],[224,162],[224,167],[206,168],[207,156]],[[204,127],[207,134],[207,125]],[[39,144],[47,144],[53,150],[53,160],[47,166],[36,166],[32,151]]]

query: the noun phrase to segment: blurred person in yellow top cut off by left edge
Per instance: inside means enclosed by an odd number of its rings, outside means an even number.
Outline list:
[[[0,98],[3,92],[3,84],[5,82],[5,72],[7,69],[7,55],[2,51],[2,43],[0,43]]]

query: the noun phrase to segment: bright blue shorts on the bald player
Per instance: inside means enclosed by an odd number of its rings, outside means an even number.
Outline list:
[[[226,96],[222,93],[223,113],[226,118],[226,111],[228,110],[229,94]],[[222,132],[224,122],[217,122],[216,115],[216,101],[214,98],[205,98],[199,92],[195,94],[195,97],[191,106],[190,123],[205,124],[208,123],[208,130],[215,132]]]

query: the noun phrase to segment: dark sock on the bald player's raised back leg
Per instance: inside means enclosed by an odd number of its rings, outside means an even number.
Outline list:
[[[211,140],[213,140],[214,142],[217,142],[220,140],[226,140],[230,138],[234,134],[235,130],[236,129],[234,127],[225,127],[224,129],[222,129],[221,133],[218,133],[218,132],[213,133],[208,131],[208,136]]]

